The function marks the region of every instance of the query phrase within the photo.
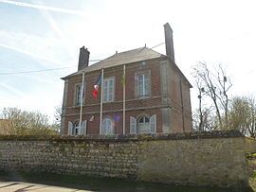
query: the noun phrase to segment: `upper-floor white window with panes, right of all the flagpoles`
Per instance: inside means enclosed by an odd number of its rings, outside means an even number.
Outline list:
[[[149,73],[137,74],[137,97],[147,97],[149,95],[150,95]]]

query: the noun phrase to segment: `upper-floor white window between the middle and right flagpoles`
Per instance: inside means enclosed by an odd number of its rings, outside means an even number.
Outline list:
[[[104,79],[103,90],[103,102],[114,101],[115,79]]]

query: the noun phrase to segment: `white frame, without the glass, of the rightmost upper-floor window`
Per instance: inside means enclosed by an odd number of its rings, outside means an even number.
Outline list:
[[[142,85],[140,85],[139,77],[142,76]],[[146,79],[145,76],[148,76],[148,90],[146,90]],[[151,75],[150,71],[143,72],[143,73],[137,73],[136,74],[136,95],[138,98],[145,98],[149,97],[151,95]],[[142,86],[142,93],[140,93],[139,87]]]

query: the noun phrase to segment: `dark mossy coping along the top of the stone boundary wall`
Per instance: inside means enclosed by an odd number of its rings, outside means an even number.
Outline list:
[[[244,137],[237,130],[229,131],[193,131],[157,134],[127,134],[127,135],[85,135],[85,136],[60,136],[60,135],[0,135],[1,140],[52,140],[52,141],[152,141],[152,140],[187,140],[208,138],[233,138]]]

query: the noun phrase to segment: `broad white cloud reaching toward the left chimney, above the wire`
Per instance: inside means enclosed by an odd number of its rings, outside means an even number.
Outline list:
[[[8,48],[34,59],[39,59],[46,67],[52,68],[52,63],[58,66],[66,66],[74,59],[66,60],[65,48],[62,41],[55,38],[39,37],[23,32],[0,30],[0,46]],[[59,54],[58,54],[59,53]]]

